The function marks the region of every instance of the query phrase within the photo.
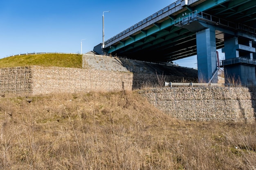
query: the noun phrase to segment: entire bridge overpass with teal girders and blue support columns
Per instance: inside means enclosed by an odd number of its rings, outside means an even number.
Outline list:
[[[216,49],[225,52],[225,60],[254,60],[255,47],[256,0],[177,0],[94,51],[159,62],[197,55],[199,79],[216,82]],[[228,76],[256,84],[255,64],[221,63]]]

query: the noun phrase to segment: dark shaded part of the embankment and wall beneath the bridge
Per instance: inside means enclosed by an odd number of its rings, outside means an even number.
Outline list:
[[[159,83],[195,82],[198,71],[192,68],[174,66],[171,63],[154,63],[119,58],[128,71],[133,73],[132,89],[155,88]]]

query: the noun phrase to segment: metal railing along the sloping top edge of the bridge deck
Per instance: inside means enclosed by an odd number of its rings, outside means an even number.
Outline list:
[[[117,38],[119,38],[119,37],[121,37],[122,35],[124,35],[124,34],[130,32],[130,31],[132,31],[132,30],[134,30],[134,29],[136,29],[137,27],[141,26],[142,24],[145,24],[146,22],[148,22],[148,21],[150,21],[150,20],[153,20],[153,19],[156,18],[157,16],[162,15],[163,13],[166,13],[167,11],[169,11],[169,10],[171,10],[171,9],[173,9],[173,8],[175,8],[175,7],[177,7],[178,5],[181,4],[181,1],[182,1],[182,0],[177,0],[176,2],[170,4],[168,7],[165,7],[164,9],[162,9],[162,10],[160,10],[160,11],[154,13],[153,15],[150,15],[148,18],[146,18],[146,19],[144,19],[144,20],[138,22],[137,24],[131,26],[130,28],[124,30],[123,32],[121,32],[121,33],[115,35],[114,37],[112,37],[112,38],[106,40],[106,41],[105,41],[105,44],[107,44],[107,43],[109,43],[109,42],[111,42],[111,41],[113,41],[113,40],[116,40]]]

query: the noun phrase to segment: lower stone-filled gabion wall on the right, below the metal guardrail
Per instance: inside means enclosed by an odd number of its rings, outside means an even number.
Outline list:
[[[255,90],[244,87],[161,88],[140,91],[164,113],[182,120],[256,120]]]

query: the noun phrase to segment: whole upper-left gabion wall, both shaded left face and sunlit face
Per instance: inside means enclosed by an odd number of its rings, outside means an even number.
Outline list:
[[[0,93],[132,90],[132,73],[63,67],[0,69]]]

